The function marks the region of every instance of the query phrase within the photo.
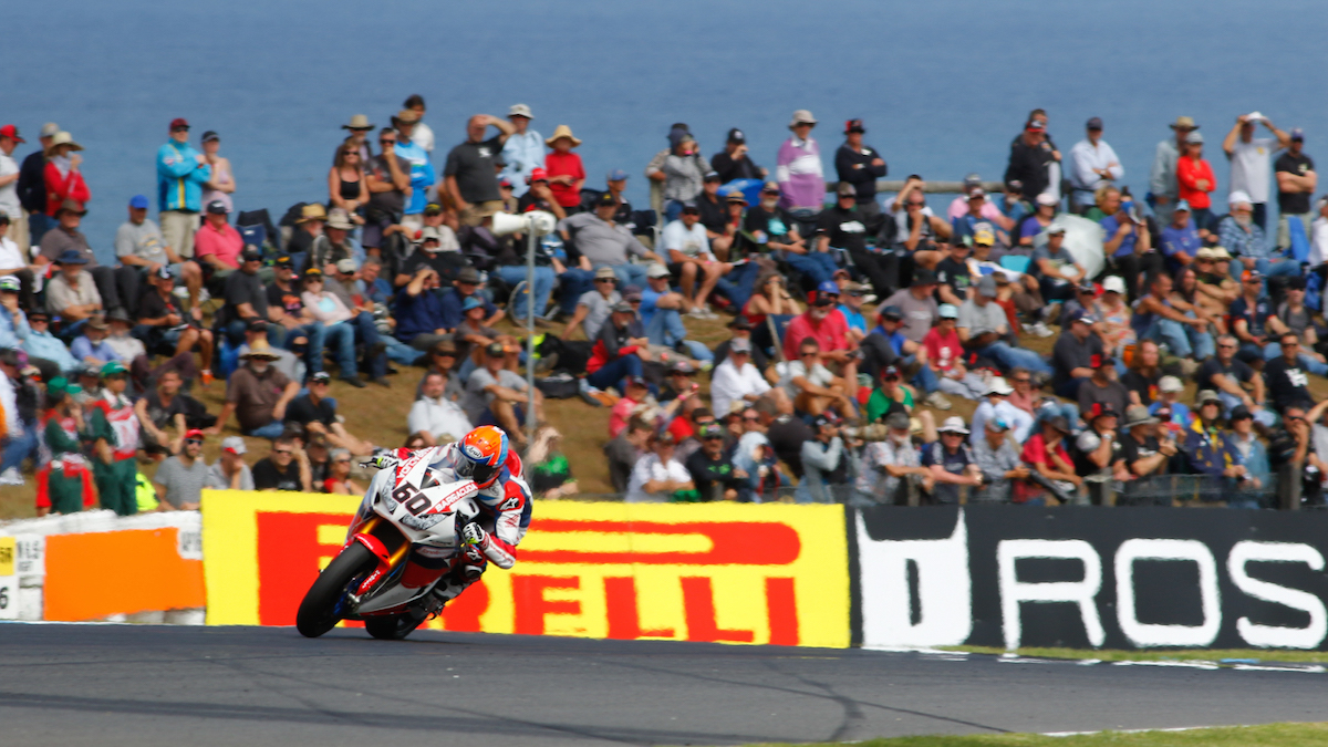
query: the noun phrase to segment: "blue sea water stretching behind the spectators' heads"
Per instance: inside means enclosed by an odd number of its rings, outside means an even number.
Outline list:
[[[129,197],[153,195],[171,118],[195,145],[220,133],[236,206],[276,219],[327,199],[339,125],[384,125],[410,93],[429,104],[440,169],[466,117],[522,101],[543,134],[567,124],[584,140],[590,185],[625,169],[639,203],[669,124],[706,154],[740,126],[773,170],[802,108],[831,178],[842,122],[861,117],[891,177],[997,179],[1037,106],[1062,153],[1102,117],[1135,194],[1179,114],[1208,137],[1222,193],[1219,144],[1243,112],[1304,128],[1305,152],[1328,158],[1328,12],[1308,0],[19,0],[3,16],[0,124],[28,136],[20,158],[46,121],[86,148],[84,227],[108,261]]]

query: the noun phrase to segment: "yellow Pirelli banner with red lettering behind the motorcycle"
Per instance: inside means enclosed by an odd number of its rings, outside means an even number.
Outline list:
[[[293,625],[356,497],[203,492],[208,625]],[[426,627],[845,647],[838,505],[537,502],[505,572]],[[352,623],[355,625],[355,623]]]

